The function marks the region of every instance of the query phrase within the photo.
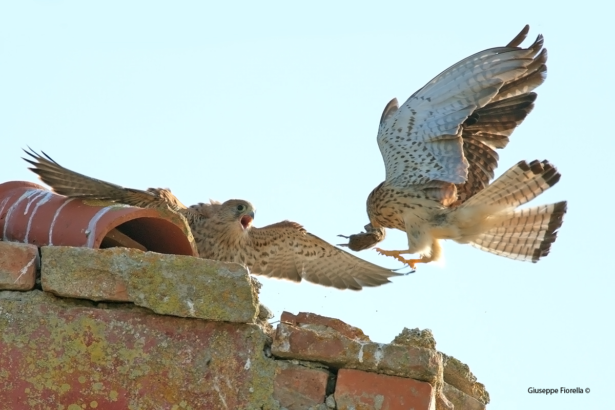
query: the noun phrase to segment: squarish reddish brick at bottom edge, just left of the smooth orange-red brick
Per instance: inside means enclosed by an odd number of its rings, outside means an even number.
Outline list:
[[[327,382],[331,374],[324,369],[312,369],[277,361],[273,395],[280,406],[288,410],[305,410],[325,403]]]

